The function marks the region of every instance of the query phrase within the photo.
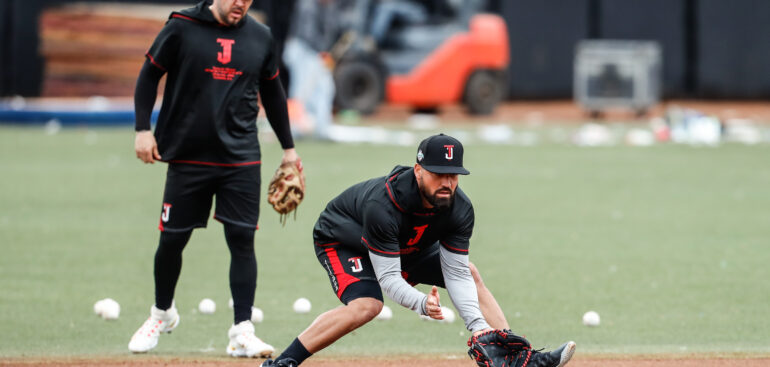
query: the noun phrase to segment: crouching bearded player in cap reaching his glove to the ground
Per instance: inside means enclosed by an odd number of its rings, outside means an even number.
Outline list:
[[[434,135],[420,143],[413,167],[396,166],[387,176],[358,183],[329,202],[313,229],[314,247],[344,306],[318,316],[278,358],[262,366],[299,365],[371,321],[382,310],[383,290],[420,315],[443,319],[437,287],[446,288],[473,333],[469,344],[479,351],[473,357],[480,366],[567,363],[574,342],[540,353],[507,330],[497,301],[469,262],[474,212],[457,186],[458,175],[467,174],[462,144]],[[420,283],[433,285],[429,294],[414,288]],[[498,354],[498,360],[483,360]]]

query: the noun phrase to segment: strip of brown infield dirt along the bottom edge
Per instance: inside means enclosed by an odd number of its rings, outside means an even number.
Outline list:
[[[251,366],[256,367],[262,363],[261,359],[231,360],[231,359],[161,359],[161,358],[112,358],[112,359],[78,359],[78,358],[33,358],[0,360],[0,366],[20,367],[74,367],[74,366],[120,366],[120,367],[214,367],[214,366]],[[455,357],[454,359],[429,359],[425,357],[393,357],[388,359],[325,359],[317,358],[308,360],[303,366],[307,367],[471,367],[475,364],[468,358]],[[760,367],[770,366],[770,357],[701,357],[701,356],[662,356],[662,357],[582,357],[576,355],[569,363],[570,367]]]

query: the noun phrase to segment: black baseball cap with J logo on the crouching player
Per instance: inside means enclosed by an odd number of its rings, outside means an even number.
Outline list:
[[[463,145],[444,134],[425,138],[417,147],[417,163],[433,173],[468,175],[463,168]]]

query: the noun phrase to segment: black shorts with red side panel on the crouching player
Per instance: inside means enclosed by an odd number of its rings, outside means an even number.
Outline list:
[[[401,261],[401,276],[412,286],[429,284],[444,288],[438,243]],[[371,297],[382,301],[382,289],[369,260],[369,253],[339,242],[316,241],[315,252],[326,270],[332,290],[344,304]]]

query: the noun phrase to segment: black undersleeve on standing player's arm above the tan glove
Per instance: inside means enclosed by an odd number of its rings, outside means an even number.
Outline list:
[[[283,91],[283,85],[277,74],[273,78],[260,81],[259,96],[262,97],[262,106],[265,108],[267,120],[278,141],[281,142],[281,147],[294,148],[289,124],[289,109],[286,106],[286,92]]]

